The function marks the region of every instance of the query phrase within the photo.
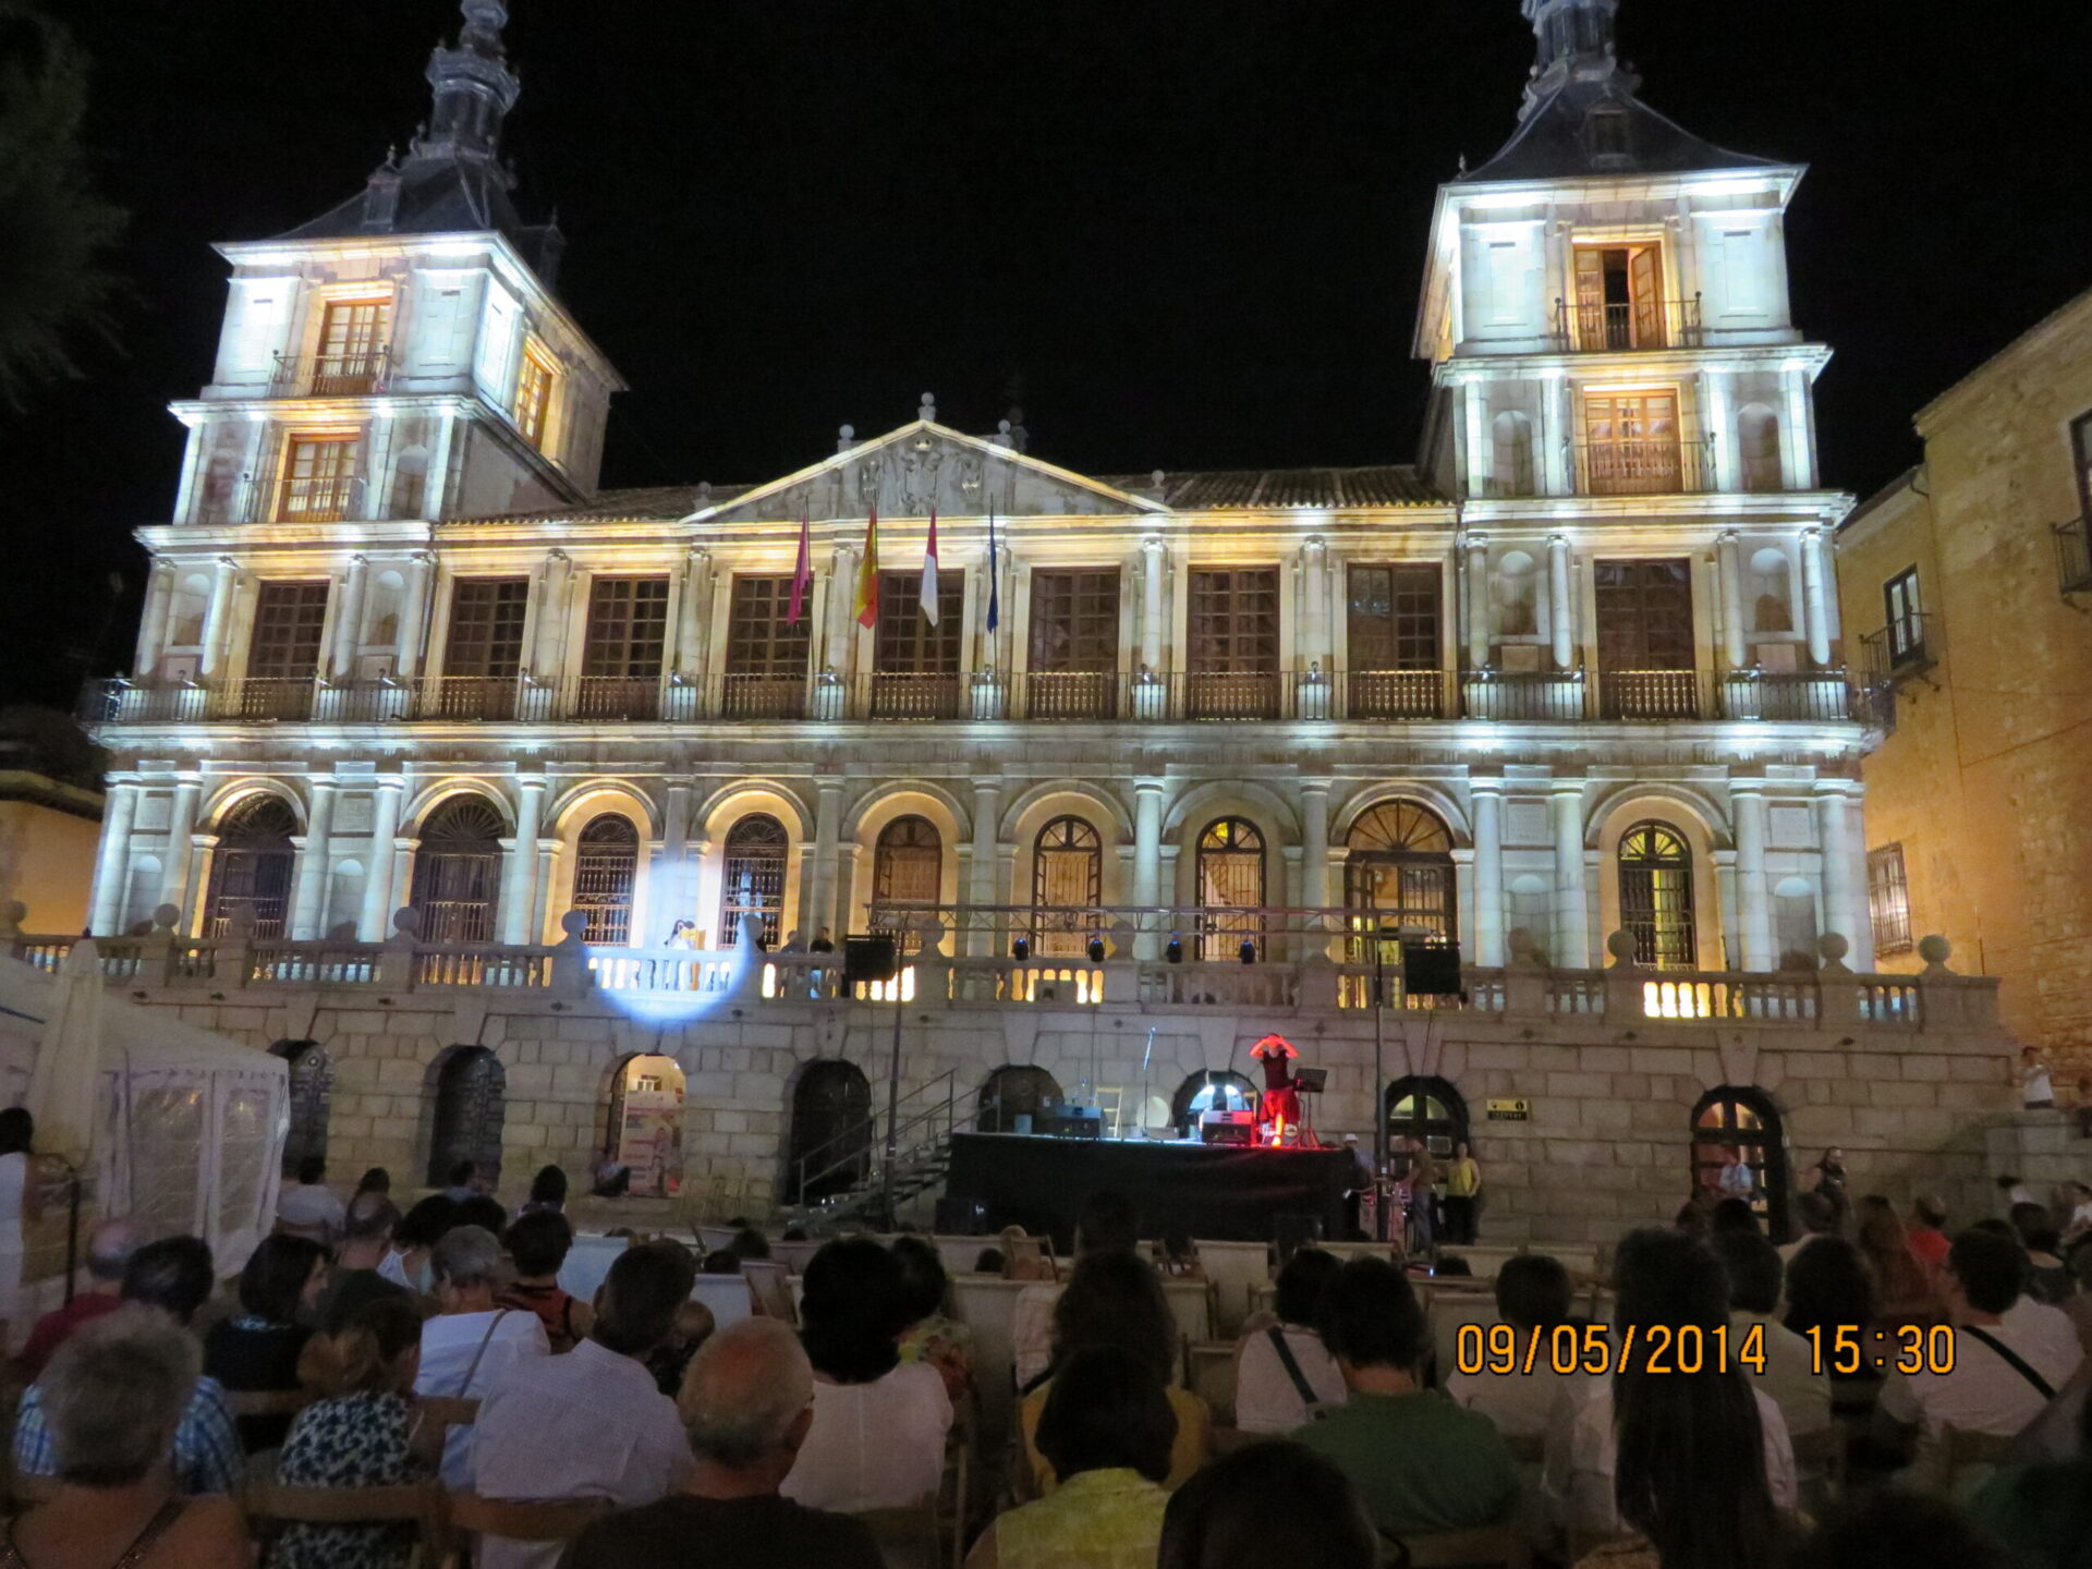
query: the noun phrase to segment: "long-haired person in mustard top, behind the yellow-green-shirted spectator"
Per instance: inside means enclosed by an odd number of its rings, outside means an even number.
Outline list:
[[[1067,1291],[1054,1303],[1052,1368],[1067,1364],[1092,1345],[1132,1351],[1155,1383],[1167,1391],[1169,1410],[1176,1412],[1176,1439],[1169,1448],[1169,1485],[1184,1485],[1211,1458],[1213,1414],[1199,1395],[1176,1387],[1176,1320],[1169,1316],[1169,1301],[1163,1297],[1161,1278],[1146,1259],[1130,1249],[1109,1249],[1079,1257],[1075,1272],[1067,1280]],[[1044,1416],[1046,1400],[1052,1393],[1052,1368],[1048,1368],[1048,1379],[1025,1395],[1017,1408],[1019,1429],[1025,1439],[1025,1460],[1031,1466],[1031,1481],[1040,1496],[1054,1490],[1052,1466],[1040,1454],[1036,1441],[1040,1416]]]

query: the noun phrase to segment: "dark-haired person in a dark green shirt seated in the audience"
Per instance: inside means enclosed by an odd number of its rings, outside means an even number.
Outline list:
[[[1431,1328],[1410,1282],[1385,1259],[1351,1259],[1322,1299],[1322,1339],[1351,1397],[1293,1435],[1337,1462],[1387,1536],[1508,1521],[1519,1473],[1487,1416],[1425,1389]]]

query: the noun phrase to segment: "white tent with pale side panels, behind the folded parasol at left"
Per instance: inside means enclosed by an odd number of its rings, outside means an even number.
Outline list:
[[[52,977],[0,956],[0,1105],[21,1105]],[[276,1213],[291,1121],[289,1063],[115,996],[100,1010],[94,1188],[144,1236],[188,1232],[236,1270]]]

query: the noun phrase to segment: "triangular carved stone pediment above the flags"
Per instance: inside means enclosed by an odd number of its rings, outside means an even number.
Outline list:
[[[914,420],[831,458],[701,506],[688,521],[718,525],[797,523],[866,517],[1138,517],[1167,513],[1102,479],[1040,462],[1015,448]]]

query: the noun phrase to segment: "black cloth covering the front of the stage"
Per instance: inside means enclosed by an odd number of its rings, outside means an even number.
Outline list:
[[[946,1192],[987,1205],[987,1230],[1052,1232],[1067,1251],[1075,1215],[1098,1188],[1140,1209],[1140,1232],[1182,1226],[1215,1243],[1270,1243],[1280,1218],[1312,1215],[1343,1236],[1343,1195],[1358,1182],[1347,1151],[1230,1149],[1138,1140],[960,1134]]]

